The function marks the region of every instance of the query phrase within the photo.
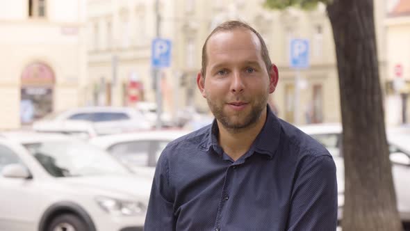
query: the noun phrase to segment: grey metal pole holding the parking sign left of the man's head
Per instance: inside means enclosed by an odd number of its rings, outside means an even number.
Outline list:
[[[156,38],[161,36],[161,15],[159,13],[159,0],[155,1],[156,13]],[[161,95],[161,73],[159,68],[154,68],[154,79],[156,81],[156,129],[161,129],[162,95]]]

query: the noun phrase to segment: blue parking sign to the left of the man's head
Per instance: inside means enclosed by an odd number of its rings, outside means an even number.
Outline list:
[[[152,67],[170,67],[171,40],[156,38],[152,40],[151,65]]]

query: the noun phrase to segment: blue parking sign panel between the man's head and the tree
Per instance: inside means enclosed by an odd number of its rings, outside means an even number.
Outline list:
[[[290,67],[309,67],[309,40],[299,38],[290,40]]]

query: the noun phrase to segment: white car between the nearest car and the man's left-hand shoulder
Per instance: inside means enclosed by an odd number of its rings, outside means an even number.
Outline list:
[[[165,146],[188,133],[186,130],[153,130],[98,136],[89,142],[112,154],[138,175],[154,177],[156,161]]]

